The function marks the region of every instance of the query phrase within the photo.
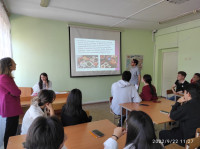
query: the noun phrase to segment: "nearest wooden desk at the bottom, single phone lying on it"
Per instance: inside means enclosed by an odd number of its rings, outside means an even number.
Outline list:
[[[90,123],[84,123],[74,126],[64,127],[67,135],[65,146],[67,149],[103,149],[103,142],[112,136],[116,126],[109,120],[100,120]],[[94,138],[89,131],[98,129],[104,136]],[[10,137],[7,149],[23,149],[22,142],[25,141],[26,135]],[[117,142],[119,149],[125,146],[126,136],[122,136]]]

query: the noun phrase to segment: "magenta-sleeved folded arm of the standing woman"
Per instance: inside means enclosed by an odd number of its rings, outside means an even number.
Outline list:
[[[14,80],[11,78],[5,78],[2,81],[2,86],[12,95],[19,97],[21,95],[21,90],[17,87]]]

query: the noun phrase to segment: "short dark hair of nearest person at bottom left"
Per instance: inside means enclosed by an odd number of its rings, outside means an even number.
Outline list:
[[[59,149],[64,141],[64,129],[57,117],[38,117],[28,129],[26,149]]]

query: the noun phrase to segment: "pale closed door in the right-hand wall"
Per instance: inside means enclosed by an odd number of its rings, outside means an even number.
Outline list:
[[[178,52],[163,52],[162,56],[162,96],[166,97],[166,90],[171,89],[177,79]]]

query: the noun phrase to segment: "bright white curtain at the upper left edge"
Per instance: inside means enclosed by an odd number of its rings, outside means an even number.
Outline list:
[[[0,59],[12,57],[10,22],[0,0]]]

